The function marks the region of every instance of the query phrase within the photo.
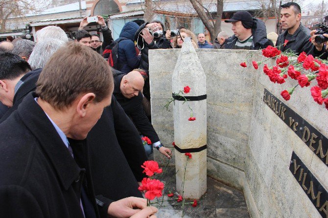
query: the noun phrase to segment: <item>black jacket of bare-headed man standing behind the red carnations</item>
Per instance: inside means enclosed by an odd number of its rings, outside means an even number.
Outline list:
[[[301,54],[303,51],[306,54],[313,55],[314,45],[309,41],[310,39],[310,30],[300,23],[299,28],[295,31],[293,36],[284,45],[285,38],[287,36],[288,31],[284,31],[281,33],[277,39],[276,46],[279,46],[279,50],[286,51],[291,50],[296,54]]]

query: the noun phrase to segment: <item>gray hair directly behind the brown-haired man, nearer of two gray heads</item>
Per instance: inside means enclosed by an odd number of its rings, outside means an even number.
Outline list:
[[[28,59],[28,64],[32,70],[37,68],[43,68],[47,61],[50,59],[53,53],[55,53],[65,42],[58,39],[47,39],[45,41],[38,42],[33,52]]]

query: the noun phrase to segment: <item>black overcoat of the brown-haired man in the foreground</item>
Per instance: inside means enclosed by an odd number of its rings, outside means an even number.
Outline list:
[[[0,124],[1,216],[84,218],[80,207],[83,185],[99,217],[90,170],[74,161],[34,97],[28,94]],[[86,141],[80,144],[84,155],[77,158],[88,164]]]

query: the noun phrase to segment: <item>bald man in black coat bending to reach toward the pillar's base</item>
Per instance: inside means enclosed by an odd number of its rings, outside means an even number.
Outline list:
[[[160,153],[170,158],[171,151],[160,142],[156,131],[142,109],[143,95],[141,90],[143,84],[143,77],[138,71],[131,71],[128,74],[116,71],[113,94],[124,112],[131,117],[141,134],[147,136],[152,142],[152,146],[145,146],[147,155],[152,153],[152,147],[154,147]]]

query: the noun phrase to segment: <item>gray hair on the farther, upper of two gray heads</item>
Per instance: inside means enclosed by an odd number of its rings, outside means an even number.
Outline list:
[[[36,39],[38,43],[47,39],[58,39],[65,43],[69,41],[65,31],[58,26],[46,26],[38,30],[36,32]]]

